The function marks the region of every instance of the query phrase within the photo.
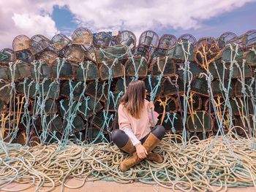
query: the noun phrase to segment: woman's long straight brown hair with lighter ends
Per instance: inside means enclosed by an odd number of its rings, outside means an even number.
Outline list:
[[[146,87],[142,80],[135,80],[129,83],[127,92],[120,99],[120,104],[124,104],[124,109],[139,119],[143,111]]]

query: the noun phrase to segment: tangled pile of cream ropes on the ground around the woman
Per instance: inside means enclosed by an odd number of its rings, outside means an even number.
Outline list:
[[[180,135],[167,134],[154,150],[164,157],[162,164],[142,161],[127,172],[119,172],[118,165],[127,157],[116,146],[107,143],[97,145],[73,145],[64,149],[60,145],[37,145],[25,147],[7,144],[9,158],[3,150],[0,157],[0,188],[8,190],[12,182],[29,183],[23,191],[36,185],[36,191],[52,191],[61,185],[80,188],[86,181],[110,180],[118,183],[140,181],[159,184],[165,188],[181,191],[225,191],[228,187],[256,188],[256,150],[252,139],[227,134],[233,153],[225,145],[225,138],[199,140],[192,137],[187,144]],[[180,141],[176,143],[174,140]],[[67,185],[69,178],[80,180],[80,185]],[[216,185],[219,188],[213,188]]]

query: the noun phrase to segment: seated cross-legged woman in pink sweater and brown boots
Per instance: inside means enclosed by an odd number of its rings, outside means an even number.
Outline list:
[[[111,136],[119,149],[132,155],[121,162],[122,172],[139,164],[144,158],[158,163],[163,161],[159,154],[151,153],[165,135],[163,126],[154,125],[158,113],[154,112],[153,120],[151,110],[154,111],[154,104],[146,100],[145,83],[141,80],[130,82],[118,107],[119,129],[113,131]],[[151,126],[155,127],[151,130]]]

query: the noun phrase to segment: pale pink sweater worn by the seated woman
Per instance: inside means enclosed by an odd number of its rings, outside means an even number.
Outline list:
[[[145,99],[143,112],[140,115],[140,119],[133,118],[127,110],[124,109],[123,104],[119,104],[118,107],[118,124],[120,129],[131,128],[133,134],[137,139],[143,139],[151,130],[150,126],[153,125],[151,118],[151,112],[148,111],[148,101]],[[155,123],[157,123],[157,117],[159,114],[153,112]]]

